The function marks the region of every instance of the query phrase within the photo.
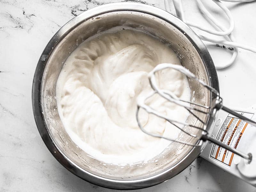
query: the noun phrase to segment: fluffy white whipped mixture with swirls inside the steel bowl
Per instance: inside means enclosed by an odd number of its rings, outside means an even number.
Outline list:
[[[148,72],[159,63],[180,65],[168,45],[130,29],[103,33],[80,44],[66,60],[56,85],[61,121],[76,145],[110,164],[148,161],[170,141],[140,131],[136,122],[138,95],[152,91]],[[168,69],[156,76],[159,87],[189,100],[188,81]],[[159,96],[147,103],[167,116],[186,121],[188,112]],[[164,119],[140,111],[145,129],[177,138],[180,130]]]

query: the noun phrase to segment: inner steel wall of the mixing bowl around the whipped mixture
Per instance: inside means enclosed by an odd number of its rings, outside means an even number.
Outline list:
[[[199,79],[209,83],[204,61],[186,34],[171,23],[150,14],[136,11],[113,11],[99,14],[80,22],[75,28],[70,29],[68,33],[63,34],[63,37],[52,48],[42,76],[41,108],[48,133],[56,147],[65,154],[68,161],[76,164],[79,169],[99,177],[112,180],[139,180],[168,169],[174,169],[188,156],[193,147],[173,142],[169,149],[166,149],[147,164],[123,167],[105,164],[76,147],[76,144],[70,139],[61,123],[55,99],[56,81],[63,63],[69,54],[87,38],[108,29],[119,30],[123,26],[144,31],[160,39],[163,43],[168,44],[177,53],[183,66],[188,68]],[[191,86],[191,94],[195,91],[194,96],[192,96],[195,102],[211,105],[211,94],[209,91],[195,81],[189,81],[189,84]],[[198,115],[202,119],[207,119],[205,115]],[[194,116],[189,116],[188,121],[195,125],[199,124]],[[191,133],[200,134],[196,129],[189,127],[186,129]],[[197,142],[196,139],[187,137],[184,133],[180,133],[179,138],[191,143]],[[193,148],[193,150],[194,153],[197,153],[196,155],[200,153],[200,148]],[[191,159],[190,161],[192,162],[193,160]],[[181,166],[179,171],[182,171],[185,167]]]

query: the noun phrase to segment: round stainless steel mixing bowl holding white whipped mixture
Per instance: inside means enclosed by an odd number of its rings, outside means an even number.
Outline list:
[[[181,20],[164,10],[145,4],[106,4],[70,20],[45,47],[38,61],[33,81],[34,116],[45,145],[70,172],[102,187],[145,188],[168,180],[181,172],[193,162],[203,147],[195,148],[172,143],[169,150],[156,157],[157,162],[152,161],[132,167],[127,165],[124,168],[104,164],[76,147],[66,133],[56,110],[55,86],[63,62],[88,37],[117,26],[145,31],[168,44],[177,52],[182,65],[219,91],[216,70],[207,49],[199,37]],[[214,98],[210,92],[192,81],[190,86],[191,92],[196,90],[197,102],[211,104]],[[191,116],[188,120],[197,123]],[[212,119],[208,121],[208,131],[211,124]],[[188,140],[182,134],[179,137]],[[190,140],[190,142],[196,141]]]

